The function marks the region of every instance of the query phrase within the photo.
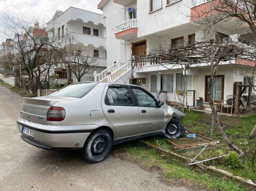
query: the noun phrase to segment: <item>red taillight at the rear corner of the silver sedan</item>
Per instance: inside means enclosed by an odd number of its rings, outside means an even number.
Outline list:
[[[63,121],[65,119],[65,109],[63,107],[51,106],[47,112],[47,121]]]

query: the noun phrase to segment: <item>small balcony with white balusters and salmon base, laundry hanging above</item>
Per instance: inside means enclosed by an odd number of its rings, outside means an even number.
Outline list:
[[[131,37],[137,38],[138,33],[138,19],[130,19],[116,26],[116,39]]]

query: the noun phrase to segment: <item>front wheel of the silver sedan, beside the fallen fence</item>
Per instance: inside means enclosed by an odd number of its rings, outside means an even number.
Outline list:
[[[181,137],[182,132],[183,132],[183,125],[181,124],[181,121],[176,118],[172,118],[165,128],[164,137],[166,139],[170,139],[170,138],[177,139]]]

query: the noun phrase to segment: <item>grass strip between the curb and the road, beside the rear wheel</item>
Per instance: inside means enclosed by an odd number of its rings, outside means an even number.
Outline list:
[[[159,139],[154,140],[157,141]],[[146,167],[159,167],[170,182],[183,179],[185,182],[190,182],[191,184],[199,183],[205,185],[209,189],[226,191],[245,190],[243,186],[237,185],[236,182],[225,181],[221,178],[211,177],[208,174],[198,174],[188,168],[184,168],[176,160],[169,160],[159,156],[155,150],[146,149],[143,144],[138,141],[130,141],[118,147],[114,147],[114,152],[120,151],[128,153],[130,157],[136,161],[139,160],[139,162],[146,165]]]

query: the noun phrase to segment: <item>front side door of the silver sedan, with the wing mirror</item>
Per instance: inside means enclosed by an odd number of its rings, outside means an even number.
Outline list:
[[[164,109],[158,107],[157,100],[142,88],[131,87],[140,113],[139,134],[164,129]]]

